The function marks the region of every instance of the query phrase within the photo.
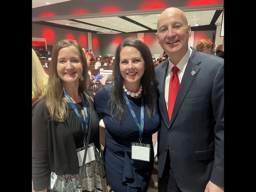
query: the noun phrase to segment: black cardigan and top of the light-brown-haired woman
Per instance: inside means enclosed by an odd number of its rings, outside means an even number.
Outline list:
[[[86,92],[93,98],[93,94]],[[99,120],[94,111],[93,101],[89,102],[83,94],[84,102],[91,123],[90,142],[99,150]],[[70,103],[68,120],[51,120],[45,98],[39,99],[32,106],[32,180],[35,190],[42,190],[50,185],[51,172],[56,175],[79,174],[77,148],[83,146],[83,132],[79,119]],[[82,102],[75,104],[81,114]],[[92,114],[91,114],[92,113]]]

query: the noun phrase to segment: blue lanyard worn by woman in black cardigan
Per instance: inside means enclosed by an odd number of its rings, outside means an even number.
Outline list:
[[[65,91],[65,89],[63,88],[63,92],[65,97],[68,99],[69,103],[71,104],[73,110],[75,111],[76,115],[78,116],[80,125],[82,126],[82,131],[83,131],[83,143],[86,143],[86,133],[88,130],[88,124],[89,124],[89,120],[88,120],[88,113],[87,113],[87,108],[86,108],[86,103],[83,100],[82,94],[81,94],[81,99],[82,99],[82,107],[83,107],[83,112],[84,112],[84,116],[85,116],[85,127],[84,127],[84,121],[80,115],[80,113],[78,112],[76,105],[74,104],[74,102],[72,101],[72,99],[70,98],[70,96],[68,95],[68,93]]]

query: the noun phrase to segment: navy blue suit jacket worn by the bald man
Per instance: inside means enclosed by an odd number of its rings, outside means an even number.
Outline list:
[[[224,59],[192,49],[170,121],[164,98],[168,59],[155,68],[162,119],[158,174],[161,178],[169,147],[179,188],[198,192],[209,180],[224,186]]]

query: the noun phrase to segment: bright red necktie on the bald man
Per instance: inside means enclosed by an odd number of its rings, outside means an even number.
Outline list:
[[[179,68],[174,66],[172,68],[173,74],[170,76],[170,81],[169,81],[169,96],[168,96],[168,117],[169,120],[172,117],[173,109],[174,109],[174,103],[175,99],[180,87],[180,81],[179,77],[177,75]]]

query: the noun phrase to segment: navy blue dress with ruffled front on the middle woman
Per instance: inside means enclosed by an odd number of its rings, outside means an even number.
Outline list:
[[[111,120],[108,106],[110,90],[111,85],[108,84],[100,88],[94,97],[95,109],[99,119],[103,119],[105,124],[104,163],[110,185],[115,192],[147,191],[154,163],[152,134],[159,129],[160,115],[156,111],[152,119],[150,119],[147,116],[146,108],[144,108],[144,132],[141,143],[151,145],[150,162],[132,160],[131,143],[139,142],[139,130],[126,103],[126,114],[123,121],[120,122],[116,108],[114,110],[115,119]],[[127,97],[140,122],[142,97]]]

